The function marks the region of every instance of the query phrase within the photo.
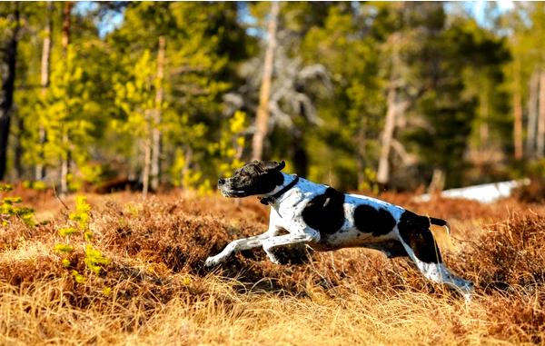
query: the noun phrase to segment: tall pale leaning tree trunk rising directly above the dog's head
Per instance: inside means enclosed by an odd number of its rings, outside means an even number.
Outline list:
[[[273,1],[271,3],[271,13],[267,28],[268,41],[263,64],[263,80],[259,95],[259,107],[255,117],[255,131],[252,140],[252,157],[254,160],[263,159],[263,143],[265,136],[269,132],[269,97],[271,95],[274,50],[276,48],[276,27],[278,26],[279,12],[280,4],[277,1]]]

